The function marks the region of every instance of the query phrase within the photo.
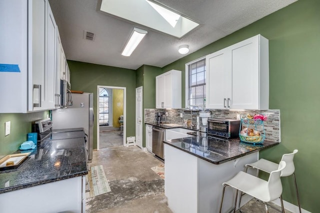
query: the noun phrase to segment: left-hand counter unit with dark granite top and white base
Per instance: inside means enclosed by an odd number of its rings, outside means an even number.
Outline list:
[[[31,153],[18,168],[0,171],[0,212],[84,212],[84,138],[41,141],[21,152]]]

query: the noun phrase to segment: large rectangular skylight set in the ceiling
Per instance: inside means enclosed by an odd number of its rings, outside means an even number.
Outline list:
[[[141,24],[178,38],[199,25],[152,0],[101,0],[98,8],[101,12],[113,17]]]

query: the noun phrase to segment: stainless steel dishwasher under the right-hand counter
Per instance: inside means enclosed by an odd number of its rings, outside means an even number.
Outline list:
[[[165,129],[159,127],[152,127],[152,152],[154,155],[162,160],[163,156],[163,140],[165,135]]]

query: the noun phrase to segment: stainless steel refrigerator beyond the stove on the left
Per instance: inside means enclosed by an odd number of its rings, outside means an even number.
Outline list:
[[[83,128],[87,135],[88,161],[93,148],[93,93],[72,93],[72,105],[52,110],[52,129]]]

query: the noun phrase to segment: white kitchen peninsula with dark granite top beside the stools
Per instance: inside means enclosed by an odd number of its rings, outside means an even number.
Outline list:
[[[168,207],[175,213],[218,212],[222,183],[243,171],[245,164],[258,160],[259,151],[277,144],[265,140],[251,145],[239,139],[200,136],[164,141]],[[226,190],[222,212],[232,208],[234,195]]]

